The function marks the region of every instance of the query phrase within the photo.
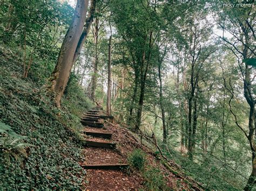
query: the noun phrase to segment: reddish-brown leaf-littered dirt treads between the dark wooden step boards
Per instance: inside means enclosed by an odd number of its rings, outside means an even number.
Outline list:
[[[105,116],[102,110],[95,111],[97,108],[94,108],[92,111],[87,112],[83,116],[84,121],[95,121],[95,123],[103,123],[105,127],[96,128],[93,126],[85,126],[84,137],[86,140],[90,140],[97,143],[114,143],[112,138],[106,139],[101,137],[86,136],[86,132],[97,132],[100,136],[100,133],[110,133],[106,128],[104,119],[98,118],[93,119],[95,116]],[[95,116],[92,116],[95,115]],[[88,134],[88,133],[87,133]],[[98,136],[96,135],[96,136]],[[114,137],[111,132],[111,136]],[[83,149],[83,154],[85,155],[85,161],[81,162],[81,165],[119,165],[126,164],[126,156],[122,155],[120,151],[116,148],[106,148],[106,147],[95,147],[88,146]],[[127,172],[126,168],[122,167],[117,169],[86,169],[86,180],[89,182],[85,186],[85,189],[89,190],[134,190],[143,188],[143,179],[138,176],[136,173]],[[112,168],[112,167],[110,167]]]

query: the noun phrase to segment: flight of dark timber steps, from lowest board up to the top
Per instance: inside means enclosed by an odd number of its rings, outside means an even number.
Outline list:
[[[82,164],[85,169],[104,169],[104,170],[121,170],[127,168],[125,159],[119,159],[117,162],[116,143],[112,142],[112,133],[104,128],[104,119],[112,119],[113,116],[106,116],[102,107],[95,107],[82,117],[81,123],[85,126],[81,131],[85,147],[91,147],[92,153],[95,157],[90,156],[91,160],[86,160]],[[90,151],[91,151],[90,150]],[[97,156],[96,156],[97,155]],[[99,155],[99,156],[98,156]],[[119,161],[123,161],[120,163]],[[92,163],[92,164],[91,164]]]

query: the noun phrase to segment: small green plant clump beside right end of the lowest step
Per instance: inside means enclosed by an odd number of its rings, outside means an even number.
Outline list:
[[[139,171],[144,171],[146,154],[142,150],[136,149],[129,155],[128,162]]]

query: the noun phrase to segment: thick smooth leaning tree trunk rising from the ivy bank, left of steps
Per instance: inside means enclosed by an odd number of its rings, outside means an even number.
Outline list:
[[[73,56],[76,51],[78,40],[83,31],[86,18],[88,0],[77,0],[75,13],[69,30],[66,33],[62,47],[60,48],[59,58],[55,69],[50,77],[51,89],[55,92],[55,102],[60,107],[60,99],[69,81],[70,71],[73,64]]]

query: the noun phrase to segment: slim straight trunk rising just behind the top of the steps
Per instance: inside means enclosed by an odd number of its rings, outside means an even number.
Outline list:
[[[107,66],[107,104],[106,104],[106,115],[111,115],[111,42],[112,42],[112,29],[110,26],[110,37],[109,37],[109,63]]]

